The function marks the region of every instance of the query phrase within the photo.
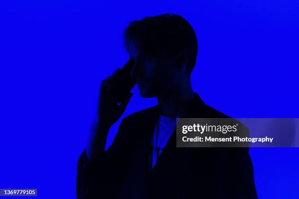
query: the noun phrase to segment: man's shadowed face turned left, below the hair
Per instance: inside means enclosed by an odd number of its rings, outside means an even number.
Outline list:
[[[174,85],[169,56],[151,56],[136,40],[131,40],[128,44],[128,53],[134,60],[131,75],[136,77],[141,97],[157,97],[171,90]]]

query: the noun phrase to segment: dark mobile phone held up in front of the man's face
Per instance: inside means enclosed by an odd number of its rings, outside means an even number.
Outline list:
[[[118,95],[117,102],[123,103],[126,97],[136,84],[136,79],[131,76],[131,70],[134,65],[134,60],[129,59],[120,71],[120,76],[118,78]]]

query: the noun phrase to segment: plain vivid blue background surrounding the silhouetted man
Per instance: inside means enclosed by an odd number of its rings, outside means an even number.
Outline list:
[[[75,198],[100,81],[128,59],[123,31],[167,12],[195,29],[192,87],[208,105],[235,118],[299,118],[296,0],[2,0],[0,188]],[[124,116],[155,104],[134,88]],[[259,198],[299,198],[299,148],[250,153]]]

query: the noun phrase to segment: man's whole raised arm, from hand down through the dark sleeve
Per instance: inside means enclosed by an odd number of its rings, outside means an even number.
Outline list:
[[[85,150],[81,154],[77,165],[77,198],[90,199],[115,198],[121,188],[121,180],[125,167],[126,140],[124,120],[113,144],[105,152],[107,134],[112,126],[124,113],[130,100],[131,93],[123,96],[123,103],[119,104],[118,69],[101,83],[98,118],[93,126]],[[105,197],[106,196],[106,197]]]

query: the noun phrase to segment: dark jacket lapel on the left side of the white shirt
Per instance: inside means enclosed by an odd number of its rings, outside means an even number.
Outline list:
[[[127,160],[122,198],[147,198],[149,178],[150,140],[158,119],[158,107],[151,107],[146,114],[138,118],[138,125],[130,130],[134,140],[130,145],[131,152]]]

